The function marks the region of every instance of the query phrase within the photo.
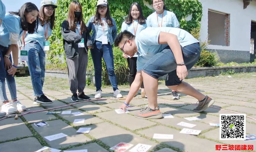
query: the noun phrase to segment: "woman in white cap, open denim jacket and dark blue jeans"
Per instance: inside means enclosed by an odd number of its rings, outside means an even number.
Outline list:
[[[114,97],[122,98],[123,96],[117,87],[112,50],[112,45],[117,35],[117,28],[114,18],[110,17],[107,0],[98,0],[95,16],[89,19],[87,27],[89,32],[92,31],[92,43],[95,46],[94,49],[91,49],[95,69],[95,98],[101,98],[102,58],[107,67],[108,77],[114,90]]]

